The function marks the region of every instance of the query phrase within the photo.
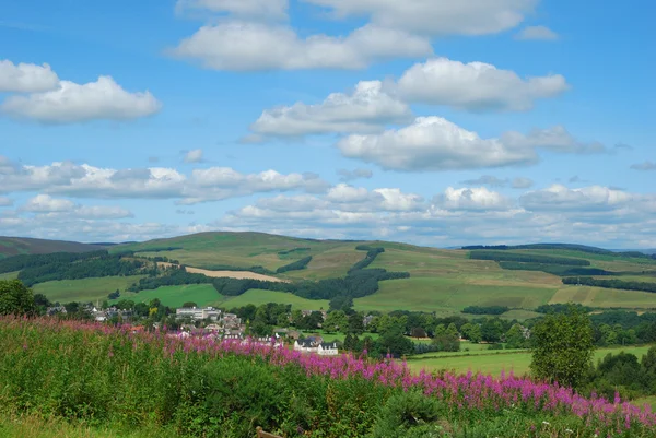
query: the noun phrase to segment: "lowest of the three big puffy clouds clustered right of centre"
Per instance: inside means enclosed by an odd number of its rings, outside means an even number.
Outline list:
[[[532,164],[531,147],[508,147],[499,139],[481,139],[441,117],[382,134],[349,135],[338,143],[342,155],[396,170],[455,170]]]

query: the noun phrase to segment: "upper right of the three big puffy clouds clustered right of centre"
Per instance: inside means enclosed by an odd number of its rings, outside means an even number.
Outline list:
[[[412,66],[396,85],[405,100],[475,111],[524,111],[531,109],[537,99],[558,96],[567,88],[560,74],[522,79],[492,64],[446,58]]]

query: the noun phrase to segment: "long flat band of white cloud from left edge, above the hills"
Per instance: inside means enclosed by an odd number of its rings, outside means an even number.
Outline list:
[[[0,192],[40,191],[78,198],[174,199],[179,203],[216,201],[259,192],[321,192],[328,184],[314,174],[266,170],[242,174],[230,167],[113,169],[69,162],[46,166],[17,165],[0,157]]]

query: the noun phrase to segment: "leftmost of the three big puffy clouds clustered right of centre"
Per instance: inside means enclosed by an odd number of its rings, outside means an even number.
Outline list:
[[[384,93],[380,81],[363,81],[351,94],[332,93],[317,105],[267,109],[250,130],[263,135],[377,132],[385,123],[411,119],[410,107]]]

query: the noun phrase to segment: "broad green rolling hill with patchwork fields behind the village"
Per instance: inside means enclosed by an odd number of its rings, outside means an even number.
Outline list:
[[[78,245],[79,248],[89,247]],[[563,277],[572,272],[572,268],[584,269],[583,272],[604,272],[602,279],[653,283],[656,282],[656,260],[644,254],[633,257],[574,245],[526,245],[499,251],[483,250],[490,258],[484,260],[477,259],[480,253],[477,256],[476,249],[436,249],[387,241],[314,240],[261,233],[202,233],[121,244],[106,249],[114,254],[131,251],[136,258],[166,258],[200,270],[238,271],[239,276],[251,270],[297,283],[347,276],[355,263],[367,257],[362,246],[385,249],[366,269],[408,272],[410,276],[379,281],[377,292],[354,299],[358,310],[461,315],[465,307],[472,305],[507,306],[511,310],[504,317],[522,319],[535,316],[534,310],[540,305],[569,301],[596,309],[656,309],[654,293],[563,284]],[[509,258],[519,262],[499,261],[499,253],[505,254],[503,260]],[[525,262],[527,260],[539,263]],[[304,261],[301,269],[281,269],[300,261]],[[292,304],[297,308],[318,309],[327,305],[326,300],[308,300],[260,287],[239,296],[220,295],[212,292],[211,286],[166,286],[139,293],[127,292],[127,288],[125,277],[47,282],[35,286],[35,289],[46,295],[50,293],[60,301],[67,296],[103,299],[107,293],[119,289],[122,298],[142,300],[160,297],[171,305],[184,301],[187,295],[192,295],[199,305],[229,308],[232,304],[268,300]]]

